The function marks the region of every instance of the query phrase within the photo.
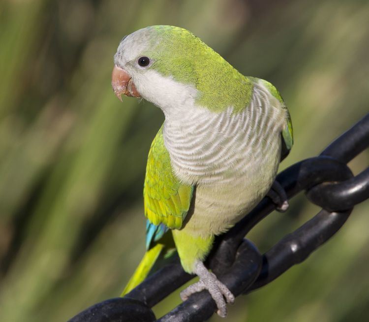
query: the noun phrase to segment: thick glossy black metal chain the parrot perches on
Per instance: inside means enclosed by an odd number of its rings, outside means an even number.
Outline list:
[[[246,234],[268,216],[275,205],[265,197],[249,214],[217,237],[207,264],[235,296],[256,290],[304,261],[346,222],[353,207],[369,198],[369,167],[354,176],[347,163],[369,147],[369,114],[332,142],[318,157],[300,161],[277,176],[291,198],[305,191],[322,207],[304,225],[284,236],[265,254]],[[215,302],[204,290],[191,295],[156,320],[151,307],[193,276],[184,272],[179,258],[155,272],[123,298],[97,303],[69,322],[200,322],[215,312]]]

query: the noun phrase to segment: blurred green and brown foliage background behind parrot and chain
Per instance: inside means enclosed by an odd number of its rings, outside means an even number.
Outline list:
[[[163,115],[113,94],[125,34],[181,26],[274,83],[295,129],[284,168],[368,113],[368,21],[362,0],[2,0],[0,320],[66,321],[118,296],[144,253],[143,179]],[[350,166],[368,163],[366,151]],[[248,237],[266,251],[316,211],[300,195]],[[358,205],[306,262],[237,298],[227,321],[368,321],[368,211]],[[178,303],[176,292],[156,316]]]

